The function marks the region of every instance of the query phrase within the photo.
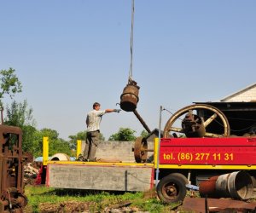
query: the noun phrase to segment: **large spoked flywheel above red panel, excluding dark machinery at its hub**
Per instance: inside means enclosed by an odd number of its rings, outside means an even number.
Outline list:
[[[205,112],[205,114],[201,115],[200,113]],[[166,122],[166,126],[164,129],[163,137],[168,138],[177,136],[177,133],[181,136],[184,135],[183,128],[174,127],[178,122],[181,122],[188,117],[189,115],[193,115],[198,125],[203,127],[203,135],[204,137],[228,137],[230,136],[230,124],[228,119],[225,117],[224,113],[218,110],[216,107],[212,107],[206,104],[195,104],[190,105],[188,107],[183,107],[182,109],[175,112],[171,118]],[[202,119],[204,117],[205,119]],[[213,128],[214,131],[207,132],[207,127],[211,127],[211,125],[215,125],[216,128]],[[181,124],[180,124],[181,126]],[[213,130],[211,129],[211,130]],[[187,136],[188,137],[188,136]],[[195,136],[196,137],[196,136]],[[200,137],[200,136],[199,136]]]

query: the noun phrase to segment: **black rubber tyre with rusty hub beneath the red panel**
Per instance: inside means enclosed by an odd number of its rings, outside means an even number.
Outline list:
[[[156,192],[161,201],[170,204],[183,201],[186,196],[186,182],[180,176],[174,174],[163,177],[156,187]]]

